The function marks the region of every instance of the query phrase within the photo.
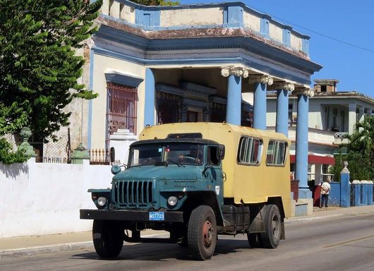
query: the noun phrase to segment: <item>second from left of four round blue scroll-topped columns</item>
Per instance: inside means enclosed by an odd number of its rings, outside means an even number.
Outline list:
[[[266,130],[266,90],[267,85],[255,83],[253,97],[253,128]]]

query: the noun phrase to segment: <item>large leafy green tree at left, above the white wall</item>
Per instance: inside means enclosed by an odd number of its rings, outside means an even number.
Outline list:
[[[29,126],[37,138],[56,140],[68,125],[64,107],[95,93],[77,83],[84,60],[76,55],[97,30],[102,0],[0,0],[0,138]],[[0,162],[12,162],[1,138]]]

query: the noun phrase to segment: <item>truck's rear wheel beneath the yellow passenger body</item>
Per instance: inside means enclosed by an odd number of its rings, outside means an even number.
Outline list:
[[[265,232],[260,234],[264,248],[277,248],[282,232],[281,216],[277,205],[265,206]]]

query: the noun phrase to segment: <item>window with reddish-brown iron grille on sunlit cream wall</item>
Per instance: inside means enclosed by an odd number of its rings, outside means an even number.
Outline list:
[[[107,85],[107,95],[107,140],[118,129],[128,129],[135,135],[137,88],[110,82]]]

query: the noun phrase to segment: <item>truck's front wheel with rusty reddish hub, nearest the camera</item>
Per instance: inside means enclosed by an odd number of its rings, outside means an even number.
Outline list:
[[[217,243],[215,212],[206,205],[196,207],[188,222],[188,247],[197,260],[209,260]]]

